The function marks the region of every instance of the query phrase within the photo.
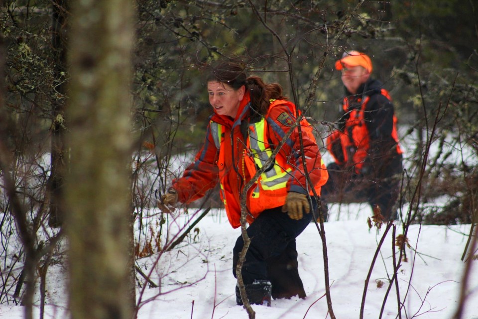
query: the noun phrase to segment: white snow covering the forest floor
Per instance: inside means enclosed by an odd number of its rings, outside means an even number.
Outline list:
[[[340,215],[339,215],[340,210]],[[331,221],[325,224],[332,306],[336,318],[359,318],[364,281],[384,234],[369,229],[366,218],[371,210],[364,204],[331,205]],[[151,212],[153,215],[154,210]],[[151,217],[154,218],[154,217]],[[191,218],[191,216],[189,216]],[[192,217],[194,219],[196,217]],[[188,215],[169,216],[169,240],[188,225]],[[396,235],[402,224],[395,222]],[[400,300],[406,297],[402,318],[450,319],[457,309],[465,263],[461,261],[471,225],[436,226],[411,225],[406,248],[408,262],[398,272]],[[212,210],[180,245],[159,260],[158,254],[138,260],[144,273],[160,288],[145,286],[137,290],[141,300],[138,319],[203,319],[248,318],[246,311],[236,305],[236,280],[232,275],[232,248],[239,229],[233,229],[224,210]],[[387,278],[392,276],[392,231],[385,238],[371,273],[366,291],[363,318],[378,318],[383,303]],[[297,238],[299,273],[307,298],[302,300],[272,300],[271,307],[253,305],[256,318],[298,319],[330,318],[324,296],[324,264],[322,242],[316,225],[311,223]],[[416,253],[415,253],[416,251]],[[396,255],[398,257],[398,253]],[[156,267],[151,267],[158,261]],[[47,276],[45,318],[67,318],[66,270],[50,267]],[[161,279],[159,279],[161,278]],[[142,277],[138,279],[144,283]],[[382,288],[377,282],[382,281]],[[144,287],[144,286],[143,286]],[[469,297],[463,319],[478,318],[478,273],[476,262],[468,282]],[[37,300],[39,304],[39,301]],[[35,310],[39,318],[39,310]],[[396,318],[396,290],[390,290],[382,318]],[[0,317],[23,318],[21,306],[2,305]]]

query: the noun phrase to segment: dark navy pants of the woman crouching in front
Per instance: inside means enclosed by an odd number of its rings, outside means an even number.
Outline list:
[[[311,209],[317,204],[313,200]],[[295,238],[307,227],[312,212],[301,220],[289,218],[281,207],[267,209],[247,228],[250,245],[242,265],[245,285],[254,280],[268,280],[272,284],[272,298],[290,298],[298,295],[305,298],[302,280],[299,277]],[[233,274],[244,242],[239,236],[233,249]]]

